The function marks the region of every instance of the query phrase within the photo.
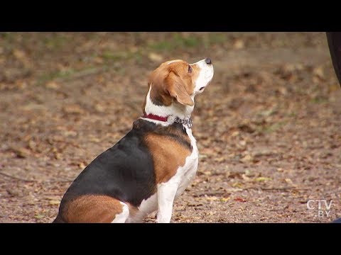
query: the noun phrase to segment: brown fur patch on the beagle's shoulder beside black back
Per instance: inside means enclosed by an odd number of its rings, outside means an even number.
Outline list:
[[[149,133],[145,141],[153,157],[156,183],[169,181],[191,154],[190,148],[169,136]]]

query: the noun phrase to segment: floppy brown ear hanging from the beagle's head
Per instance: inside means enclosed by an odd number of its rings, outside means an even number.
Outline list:
[[[190,98],[190,94],[188,94],[188,91],[185,89],[185,81],[173,72],[168,74],[168,77],[166,77],[166,90],[171,97],[178,101],[178,103],[181,103],[184,106],[194,106],[194,102],[192,98]]]

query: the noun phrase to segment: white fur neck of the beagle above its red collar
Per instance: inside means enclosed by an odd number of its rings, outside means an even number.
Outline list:
[[[191,96],[194,102],[194,95]],[[146,115],[158,115],[160,117],[173,116],[183,120],[190,118],[194,106],[183,106],[180,103],[172,103],[171,106],[157,106],[153,101],[151,101],[151,86],[149,88],[148,94],[146,96],[146,106],[144,106],[144,113]]]

